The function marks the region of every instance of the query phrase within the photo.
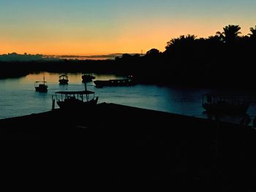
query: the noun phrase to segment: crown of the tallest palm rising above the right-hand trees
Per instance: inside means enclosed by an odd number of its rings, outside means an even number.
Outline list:
[[[239,38],[241,27],[235,25],[228,25],[223,28],[223,32],[217,32],[216,34],[222,39],[223,42],[232,43]]]

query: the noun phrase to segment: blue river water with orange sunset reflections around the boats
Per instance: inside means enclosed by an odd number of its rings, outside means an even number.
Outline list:
[[[43,74],[29,74],[26,77],[0,80],[0,119],[11,118],[31,113],[51,110],[51,97],[56,91],[81,91],[85,85],[81,73],[67,74],[68,85],[59,85],[57,73],[45,73],[48,84],[47,93],[38,93],[34,89],[34,82],[42,80]],[[110,74],[94,74],[95,80],[109,80],[116,77]],[[174,112],[200,118],[208,118],[202,105],[202,94],[211,89],[201,88],[173,88],[157,85],[134,85],[129,87],[96,88],[94,82],[87,82],[89,91],[99,96],[99,103],[116,103],[132,107],[140,107],[163,112]],[[56,106],[58,107],[58,106]],[[254,118],[256,106],[252,104],[247,114]],[[226,116],[223,120],[237,123],[241,117]]]

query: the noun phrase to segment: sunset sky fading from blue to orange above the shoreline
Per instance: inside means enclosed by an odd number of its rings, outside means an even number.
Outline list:
[[[180,35],[256,25],[255,0],[0,0],[0,54],[165,50]]]

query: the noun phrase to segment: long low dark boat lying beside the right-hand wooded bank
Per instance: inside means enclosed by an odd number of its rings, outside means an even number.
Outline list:
[[[118,80],[95,80],[94,84],[97,88],[102,88],[104,86],[130,86],[135,85],[135,81],[129,77],[127,79]]]

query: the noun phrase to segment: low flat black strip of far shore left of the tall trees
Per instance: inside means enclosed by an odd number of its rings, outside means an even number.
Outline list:
[[[0,61],[0,78],[22,77],[30,73],[98,72],[112,73],[113,61],[56,60],[56,61]]]

